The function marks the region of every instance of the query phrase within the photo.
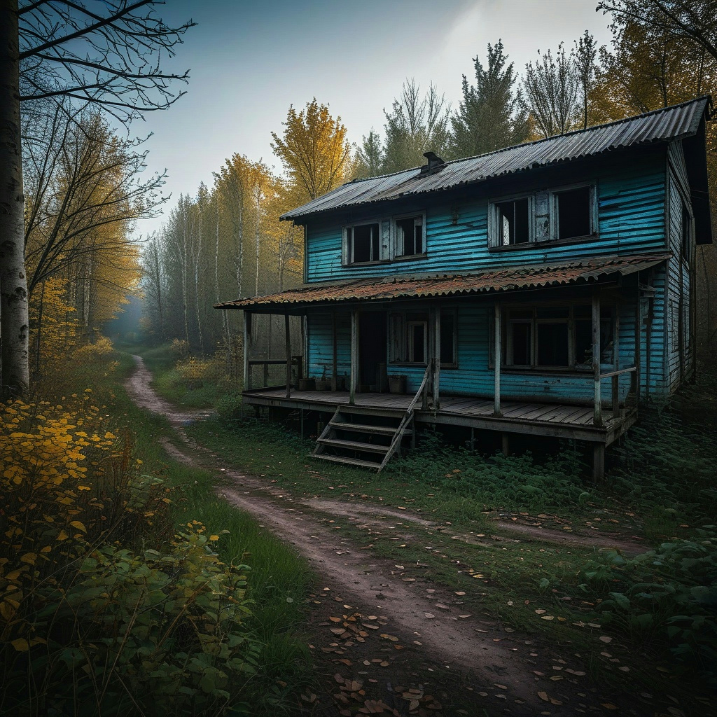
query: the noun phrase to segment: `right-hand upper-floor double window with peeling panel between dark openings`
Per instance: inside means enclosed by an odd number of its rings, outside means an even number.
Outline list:
[[[488,205],[490,247],[527,247],[546,241],[571,241],[597,234],[595,186],[536,191]]]

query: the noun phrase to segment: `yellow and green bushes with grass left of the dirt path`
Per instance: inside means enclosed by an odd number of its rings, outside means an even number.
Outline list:
[[[80,353],[55,384],[92,389],[0,414],[0,711],[289,711],[308,571],[166,460],[166,427],[116,389],[128,356]]]

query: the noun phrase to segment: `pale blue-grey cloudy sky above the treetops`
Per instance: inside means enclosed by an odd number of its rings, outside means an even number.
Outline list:
[[[312,98],[340,115],[352,143],[382,132],[384,108],[407,78],[433,82],[452,107],[473,58],[503,40],[522,72],[538,52],[572,47],[587,29],[608,44],[609,16],[597,0],[167,0],[165,22],[197,23],[163,68],[190,71],[186,95],[130,128],[151,133],[148,172],[166,169],[171,198],[211,186],[212,172],[234,153],[262,159],[277,174],[271,132],[282,132],[289,105]],[[163,217],[137,223],[143,237]]]

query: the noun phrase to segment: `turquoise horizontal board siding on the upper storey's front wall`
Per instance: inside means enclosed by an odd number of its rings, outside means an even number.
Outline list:
[[[452,201],[450,194],[428,194],[410,203],[392,202],[353,212],[336,212],[313,219],[307,227],[307,281],[341,280],[417,272],[475,271],[530,263],[561,262],[575,257],[645,253],[665,247],[665,156],[662,150],[643,152],[640,162],[612,160],[543,172],[539,179],[513,178],[510,183],[477,186]],[[513,251],[488,250],[488,200],[541,186],[559,188],[571,181],[597,185],[599,239],[552,246],[531,244]],[[492,187],[493,189],[490,189]],[[489,192],[490,194],[487,194]],[[499,192],[499,194],[495,194]],[[417,200],[423,204],[417,204]],[[341,225],[382,219],[410,211],[426,213],[425,257],[363,266],[341,266]],[[370,213],[369,213],[370,212]]]

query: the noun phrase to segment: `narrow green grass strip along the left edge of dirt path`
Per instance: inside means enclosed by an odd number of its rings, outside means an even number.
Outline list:
[[[134,353],[138,353],[136,348]],[[162,351],[145,353],[148,365],[168,367]],[[68,384],[91,385],[115,432],[128,436],[133,456],[143,461],[143,471],[160,476],[172,488],[172,521],[177,526],[201,521],[207,533],[219,534],[214,545],[224,562],[249,566],[248,594],[253,601],[249,627],[265,647],[254,680],[257,684],[250,690],[260,703],[245,705],[244,711],[252,715],[288,713],[298,702],[298,692],[312,680],[302,627],[313,574],[305,561],[247,513],[219,499],[212,473],[167,457],[161,441],[171,440],[174,431],[162,417],[138,409],[125,393],[120,382],[133,369],[131,356],[116,353],[112,359],[118,362],[115,371],[103,374],[96,367],[87,371],[80,366]],[[69,391],[72,385],[58,384],[57,388]]]

